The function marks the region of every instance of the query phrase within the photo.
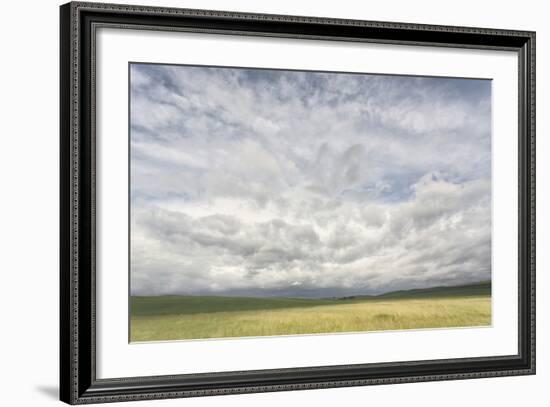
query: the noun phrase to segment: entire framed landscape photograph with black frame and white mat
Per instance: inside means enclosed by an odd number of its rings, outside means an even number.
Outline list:
[[[61,6],[70,404],[535,373],[535,33]]]

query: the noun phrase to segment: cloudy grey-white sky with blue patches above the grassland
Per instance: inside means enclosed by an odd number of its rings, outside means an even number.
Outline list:
[[[131,292],[491,276],[491,82],[131,65]]]

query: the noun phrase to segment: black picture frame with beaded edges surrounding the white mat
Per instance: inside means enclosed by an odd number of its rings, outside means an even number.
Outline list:
[[[72,2],[60,7],[60,398],[70,404],[535,373],[535,33]],[[96,378],[95,29],[181,30],[511,50],[519,60],[518,354],[230,373]]]

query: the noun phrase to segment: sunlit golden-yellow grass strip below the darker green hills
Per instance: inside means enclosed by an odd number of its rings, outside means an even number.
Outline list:
[[[131,341],[298,335],[491,324],[491,297],[386,299],[310,308],[134,316]]]

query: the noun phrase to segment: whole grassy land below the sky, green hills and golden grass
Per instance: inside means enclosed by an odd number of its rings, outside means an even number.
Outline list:
[[[491,324],[491,284],[343,298],[132,296],[130,340],[297,335]]]

